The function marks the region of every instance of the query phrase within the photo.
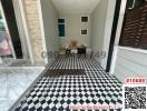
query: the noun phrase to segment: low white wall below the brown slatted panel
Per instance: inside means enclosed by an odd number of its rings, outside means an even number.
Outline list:
[[[114,74],[125,82],[125,78],[147,78],[147,51],[134,48],[117,48]]]

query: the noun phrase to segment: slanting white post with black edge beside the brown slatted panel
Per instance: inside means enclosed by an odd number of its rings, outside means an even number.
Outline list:
[[[115,65],[116,65],[116,60],[117,60],[117,53],[118,49],[117,47],[119,46],[119,39],[120,39],[120,33],[121,33],[121,28],[122,28],[122,22],[124,22],[124,16],[126,11],[126,4],[127,0],[121,0],[120,4],[120,10],[118,13],[118,21],[115,26],[115,33],[112,38],[112,44],[110,46],[112,50],[109,50],[109,59],[107,60],[107,71],[114,74],[115,71]],[[112,34],[112,33],[111,33]]]

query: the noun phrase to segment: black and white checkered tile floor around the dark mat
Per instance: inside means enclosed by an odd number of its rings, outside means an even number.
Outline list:
[[[84,69],[86,73],[49,73],[50,70],[59,69]],[[96,109],[111,107],[117,110],[102,111],[120,111],[117,107],[121,107],[121,83],[106,73],[95,59],[59,57],[16,111],[72,111],[76,107],[95,107],[95,110],[88,111],[101,111]]]

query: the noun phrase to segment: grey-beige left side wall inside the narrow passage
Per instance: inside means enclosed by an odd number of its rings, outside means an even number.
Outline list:
[[[43,27],[47,51],[58,51],[59,37],[58,37],[58,13],[51,0],[41,0]]]

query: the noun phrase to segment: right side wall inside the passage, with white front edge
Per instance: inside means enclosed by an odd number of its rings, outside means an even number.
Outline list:
[[[106,51],[105,59],[98,59],[106,69],[116,0],[100,0],[91,14],[91,48],[94,52]]]

